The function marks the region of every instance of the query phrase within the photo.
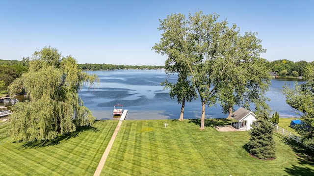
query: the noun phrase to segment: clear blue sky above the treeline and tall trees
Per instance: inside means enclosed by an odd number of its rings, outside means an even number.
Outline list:
[[[269,61],[314,61],[314,0],[1,0],[0,59],[51,46],[78,63],[164,65],[158,19],[199,10],[258,32]]]

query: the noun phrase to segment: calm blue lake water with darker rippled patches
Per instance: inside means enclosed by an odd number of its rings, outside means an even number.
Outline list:
[[[128,120],[137,119],[178,119],[181,105],[171,100],[167,90],[163,90],[160,82],[167,78],[162,70],[123,70],[123,71],[89,71],[100,78],[99,87],[88,89],[84,87],[79,96],[84,105],[93,111],[96,119],[112,119],[114,104],[123,104],[128,109]],[[176,81],[174,76],[173,81]],[[282,94],[282,87],[293,85],[296,79],[273,79],[266,96],[273,113],[277,111],[280,117],[297,116],[286,103]],[[303,81],[299,81],[303,83]],[[201,101],[185,103],[184,118],[194,119],[201,117]],[[206,118],[225,118],[221,107],[206,109]]]

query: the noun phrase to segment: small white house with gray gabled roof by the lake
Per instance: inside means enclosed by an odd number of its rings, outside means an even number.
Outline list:
[[[251,129],[253,121],[256,121],[256,115],[243,107],[237,109],[234,113],[231,114],[231,117],[237,122],[233,122],[231,125],[238,130],[248,131]]]

